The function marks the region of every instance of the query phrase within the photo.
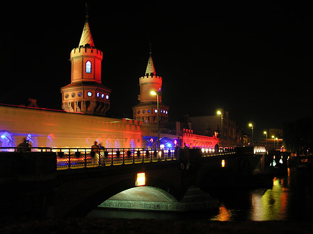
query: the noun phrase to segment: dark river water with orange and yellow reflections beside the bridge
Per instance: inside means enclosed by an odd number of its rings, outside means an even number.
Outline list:
[[[217,221],[273,221],[313,219],[312,172],[288,169],[288,175],[275,177],[273,187],[250,190],[225,190],[214,194],[220,201],[217,210],[168,213],[120,210],[93,210],[89,217],[141,219],[209,219]]]

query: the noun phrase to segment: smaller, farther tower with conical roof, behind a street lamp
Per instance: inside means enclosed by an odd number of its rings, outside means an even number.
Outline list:
[[[157,95],[152,96],[150,92],[157,91],[161,93],[162,78],[157,76],[155,72],[151,49],[145,76],[139,78],[139,86],[140,94],[138,95],[138,100],[140,103],[133,107],[133,117],[144,124],[157,123]],[[162,103],[161,94],[159,95],[159,109],[160,124],[165,124],[168,122],[168,106]]]

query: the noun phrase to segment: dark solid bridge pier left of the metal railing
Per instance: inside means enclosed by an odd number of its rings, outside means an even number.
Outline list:
[[[56,154],[1,152],[0,216],[49,217],[54,212]]]

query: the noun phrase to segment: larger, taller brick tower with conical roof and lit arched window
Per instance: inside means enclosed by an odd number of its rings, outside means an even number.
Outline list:
[[[86,8],[86,22],[79,47],[72,49],[70,54],[71,83],[61,87],[63,110],[100,116],[109,110],[111,90],[102,85],[102,58],[103,52],[96,49],[93,42]]]

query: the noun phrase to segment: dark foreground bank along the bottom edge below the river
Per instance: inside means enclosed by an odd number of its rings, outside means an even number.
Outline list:
[[[312,233],[309,222],[211,222],[206,219],[49,219],[19,222],[0,228],[0,233]]]

